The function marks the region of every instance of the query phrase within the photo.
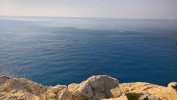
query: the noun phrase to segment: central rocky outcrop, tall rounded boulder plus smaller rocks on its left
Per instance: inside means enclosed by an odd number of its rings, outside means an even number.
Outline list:
[[[59,100],[100,100],[121,96],[117,79],[106,75],[92,76],[80,84],[48,87],[48,99]]]

